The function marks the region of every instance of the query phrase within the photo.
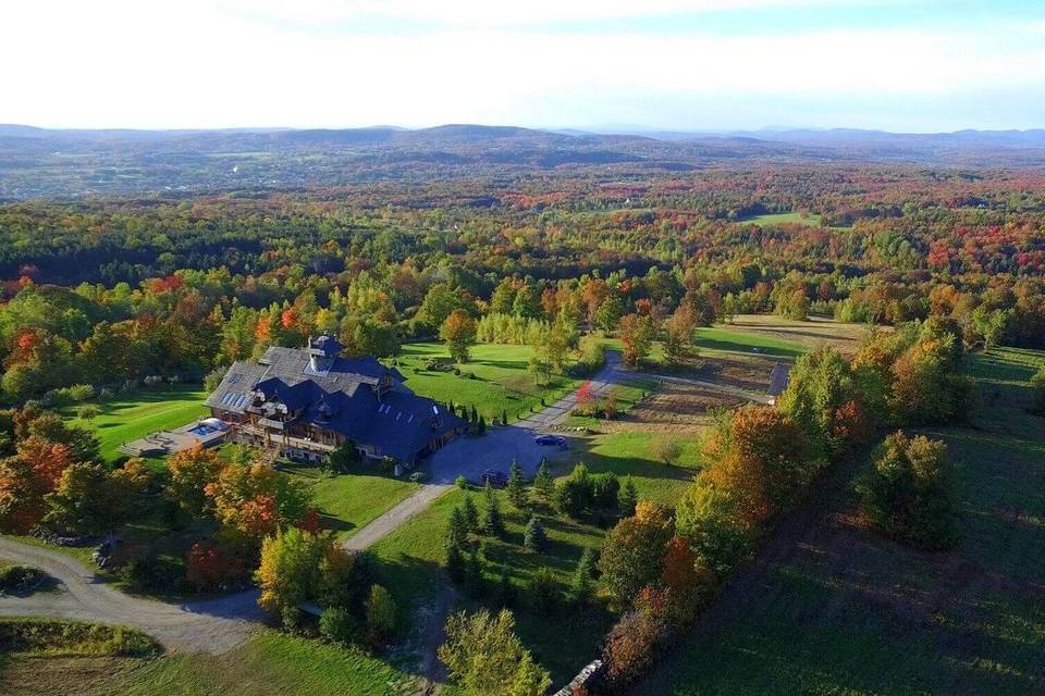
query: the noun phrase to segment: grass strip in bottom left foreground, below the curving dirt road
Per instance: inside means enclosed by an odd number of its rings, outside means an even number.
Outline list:
[[[4,694],[84,696],[405,696],[416,676],[386,660],[273,631],[221,656],[14,658],[0,662]]]

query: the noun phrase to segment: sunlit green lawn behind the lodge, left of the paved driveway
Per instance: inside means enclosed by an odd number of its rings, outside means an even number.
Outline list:
[[[470,360],[460,365],[462,374],[453,370],[426,370],[429,360],[450,360],[444,344],[406,344],[395,362],[406,377],[406,385],[421,396],[437,401],[453,401],[475,406],[489,423],[507,412],[514,421],[541,408],[541,399],[551,403],[580,385],[570,377],[554,376],[546,385],[539,385],[527,371],[533,349],[529,346],[477,344],[471,347]],[[472,376],[474,375],[474,376]]]

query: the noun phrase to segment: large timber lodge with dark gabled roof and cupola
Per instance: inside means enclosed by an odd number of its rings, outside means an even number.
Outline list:
[[[328,335],[309,338],[306,349],[273,346],[229,368],[205,403],[234,424],[233,439],[303,461],[321,461],[351,440],[366,457],[413,467],[467,428],[408,389],[397,370],[341,358],[342,349]]]

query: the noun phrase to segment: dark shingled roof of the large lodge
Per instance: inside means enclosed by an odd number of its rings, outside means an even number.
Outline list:
[[[391,388],[379,396],[378,385]],[[205,401],[209,407],[262,418],[302,410],[298,422],[341,433],[373,445],[382,456],[409,460],[434,437],[467,424],[403,384],[403,375],[376,359],[334,358],[329,368],[312,370],[307,350],[273,346],[257,362],[241,360],[225,373]],[[263,395],[256,403],[255,393]]]

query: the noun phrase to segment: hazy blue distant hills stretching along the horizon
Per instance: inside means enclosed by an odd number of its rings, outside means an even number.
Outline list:
[[[1045,129],[589,133],[470,124],[219,130],[0,125],[0,200],[339,186],[495,174],[505,169],[683,172],[752,162],[1043,167]]]

